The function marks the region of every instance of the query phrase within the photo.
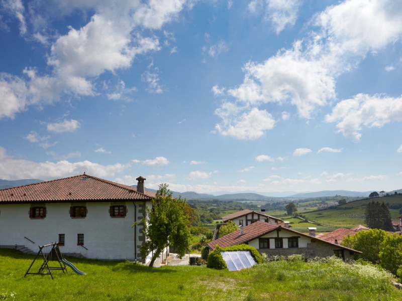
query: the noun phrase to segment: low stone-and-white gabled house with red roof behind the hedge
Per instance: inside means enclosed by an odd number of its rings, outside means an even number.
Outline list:
[[[209,242],[208,247],[214,250],[217,245],[228,247],[246,243],[269,257],[303,254],[314,258],[336,255],[346,260],[353,260],[354,253],[362,253],[315,237],[316,228],[309,228],[309,230],[310,233],[305,234],[285,226],[258,221]]]

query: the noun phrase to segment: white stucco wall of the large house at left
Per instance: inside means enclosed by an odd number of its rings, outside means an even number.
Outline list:
[[[136,202],[137,220],[142,216]],[[110,206],[125,205],[126,217],[111,217]],[[38,205],[40,206],[40,205]],[[30,204],[0,205],[0,245],[25,245],[37,252],[38,245],[58,241],[58,234],[65,234],[65,245],[60,246],[62,253],[78,253],[87,258],[97,259],[135,259],[133,202],[86,203],[88,213],[85,218],[71,218],[71,203],[45,204],[47,214],[44,219],[29,217]],[[151,202],[146,202],[150,207]],[[77,234],[84,234],[84,249],[77,245]],[[137,246],[142,235],[142,226],[136,227]],[[33,244],[28,237],[35,242]],[[138,252],[138,250],[137,250]],[[138,257],[137,257],[138,258]]]

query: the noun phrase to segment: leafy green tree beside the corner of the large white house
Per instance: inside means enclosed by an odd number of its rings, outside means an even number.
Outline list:
[[[184,256],[190,238],[187,209],[185,200],[172,198],[167,184],[159,185],[156,198],[152,199],[152,209],[146,208],[148,218],[133,224],[144,223],[146,240],[140,251],[143,258],[154,252],[149,266],[153,266],[156,258],[169,245],[177,250],[180,258]]]

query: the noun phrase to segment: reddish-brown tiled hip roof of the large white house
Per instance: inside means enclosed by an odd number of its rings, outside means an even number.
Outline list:
[[[155,193],[137,192],[131,186],[83,175],[0,190],[1,203],[102,202],[112,200],[147,201]]]

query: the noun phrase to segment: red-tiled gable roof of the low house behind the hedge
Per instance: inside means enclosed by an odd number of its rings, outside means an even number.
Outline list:
[[[289,232],[298,234],[300,236],[305,236],[305,237],[309,237],[311,239],[316,239],[318,241],[322,241],[324,243],[336,246],[338,248],[346,249],[346,250],[353,251],[353,252],[360,253],[360,254],[362,253],[360,251],[350,249],[350,248],[347,248],[347,247],[344,247],[344,246],[341,246],[341,245],[338,245],[338,244],[335,244],[335,243],[332,243],[332,242],[329,242],[329,241],[325,241],[325,240],[322,240],[321,238],[313,237],[313,236],[310,236],[310,235],[305,234],[305,233],[301,233],[301,232],[298,232],[298,231],[295,231],[295,230],[291,230],[291,229],[282,227],[280,225],[272,225],[270,223],[261,222],[261,221],[252,223],[251,225],[248,225],[248,226],[244,227],[243,228],[243,231],[244,231],[243,235],[240,235],[240,229],[239,229],[239,230],[233,231],[232,233],[226,234],[225,236],[223,236],[223,237],[221,237],[221,238],[219,238],[217,240],[211,241],[207,245],[212,250],[214,250],[216,248],[216,245],[219,245],[222,248],[230,247],[230,246],[234,246],[234,245],[249,242],[249,241],[251,241],[253,239],[259,238],[262,235],[265,235],[265,234],[267,234],[269,232],[272,232],[272,231],[274,231],[276,229],[289,231]]]

